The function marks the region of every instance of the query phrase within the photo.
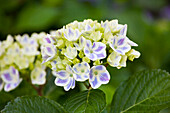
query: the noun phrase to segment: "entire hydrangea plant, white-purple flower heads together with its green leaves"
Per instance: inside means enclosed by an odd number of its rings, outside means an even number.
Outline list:
[[[119,24],[118,20],[91,19],[74,21],[49,34],[8,35],[0,42],[0,97],[12,98],[2,89],[12,91],[22,81],[31,83],[39,96],[18,97],[1,112],[156,113],[170,107],[170,74],[159,69],[129,77],[106,106],[107,95],[98,88],[112,79],[107,66],[120,69],[126,67],[127,60],[140,57],[140,52],[134,49],[138,45],[126,35],[127,25]],[[42,87],[51,82],[49,70],[55,78],[53,84],[65,91],[74,89],[77,82],[83,83],[87,90],[76,94],[66,92],[62,105],[56,98],[54,101],[48,95],[42,97]],[[0,100],[0,108],[3,101]]]

